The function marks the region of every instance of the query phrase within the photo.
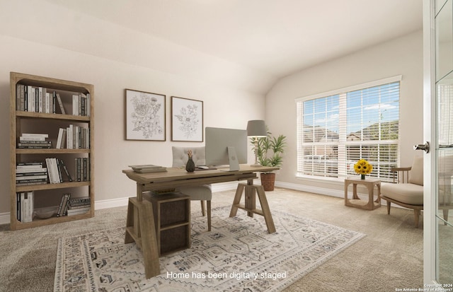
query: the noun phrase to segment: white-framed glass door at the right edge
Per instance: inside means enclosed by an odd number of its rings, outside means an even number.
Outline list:
[[[423,274],[453,283],[453,0],[423,1]],[[450,216],[449,216],[450,215]]]

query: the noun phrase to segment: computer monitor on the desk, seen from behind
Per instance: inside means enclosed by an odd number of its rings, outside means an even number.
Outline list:
[[[247,163],[247,131],[206,127],[206,165],[229,165],[229,170],[239,170]]]

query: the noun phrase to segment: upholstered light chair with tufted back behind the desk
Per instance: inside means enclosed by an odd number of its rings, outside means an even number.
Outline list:
[[[173,146],[171,151],[173,153],[173,168],[180,168],[185,166],[188,161],[187,152],[192,150],[192,159],[197,165],[205,165],[205,147],[176,147]],[[205,201],[207,205],[207,230],[211,230],[211,199],[212,189],[211,185],[198,185],[193,187],[178,187],[177,192],[187,194],[191,200],[200,200],[202,216],[205,216]]]

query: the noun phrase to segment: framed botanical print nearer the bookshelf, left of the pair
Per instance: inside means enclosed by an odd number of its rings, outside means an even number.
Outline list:
[[[125,91],[126,140],[165,141],[165,95]]]

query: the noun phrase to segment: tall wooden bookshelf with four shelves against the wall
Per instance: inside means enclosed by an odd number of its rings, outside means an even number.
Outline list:
[[[33,108],[33,110],[20,108],[18,105],[19,86],[32,86],[33,88],[45,88],[47,92],[54,95],[58,93],[64,104],[65,114],[62,114],[59,104],[55,107],[45,109],[44,107]],[[47,78],[34,76],[30,74],[21,74],[11,72],[10,74],[10,152],[11,152],[11,230],[23,228],[32,228],[54,223],[74,221],[94,216],[94,86],[91,84],[65,81],[57,78]],[[35,90],[35,89],[33,89]],[[38,93],[37,93],[38,94]],[[72,98],[73,95],[83,95],[84,107],[81,112],[73,112]],[[21,93],[19,93],[21,95]],[[22,95],[21,95],[22,97]],[[38,97],[36,97],[38,98]],[[46,101],[47,102],[47,101]],[[52,104],[53,104],[52,103]],[[36,102],[38,105],[38,102]],[[55,110],[54,110],[55,108]],[[74,110],[75,111],[75,110]],[[69,124],[86,129],[86,139],[89,139],[89,148],[55,148],[59,128],[69,127]],[[49,135],[49,141],[52,141],[51,148],[18,148],[19,136],[23,133],[43,133]],[[58,158],[64,160],[68,165],[69,173],[73,181],[67,177],[62,182],[47,183],[41,185],[17,185],[16,184],[16,166],[18,163],[42,162],[45,164],[45,158]],[[89,178],[86,180],[76,180],[76,170],[74,169],[75,158],[86,158],[86,170]],[[47,165],[46,165],[47,166]],[[18,218],[18,192],[33,192],[35,205],[55,206],[61,200],[66,192],[76,191],[75,197],[89,197],[91,205],[89,211],[85,214],[74,216],[52,216],[50,218],[38,219],[33,221],[22,222]]]

